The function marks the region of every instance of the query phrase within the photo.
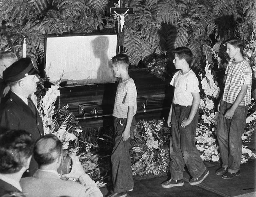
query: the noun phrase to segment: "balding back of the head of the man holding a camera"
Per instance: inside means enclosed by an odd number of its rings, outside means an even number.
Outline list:
[[[34,158],[38,166],[53,163],[62,154],[62,143],[57,136],[48,134],[35,142]]]

